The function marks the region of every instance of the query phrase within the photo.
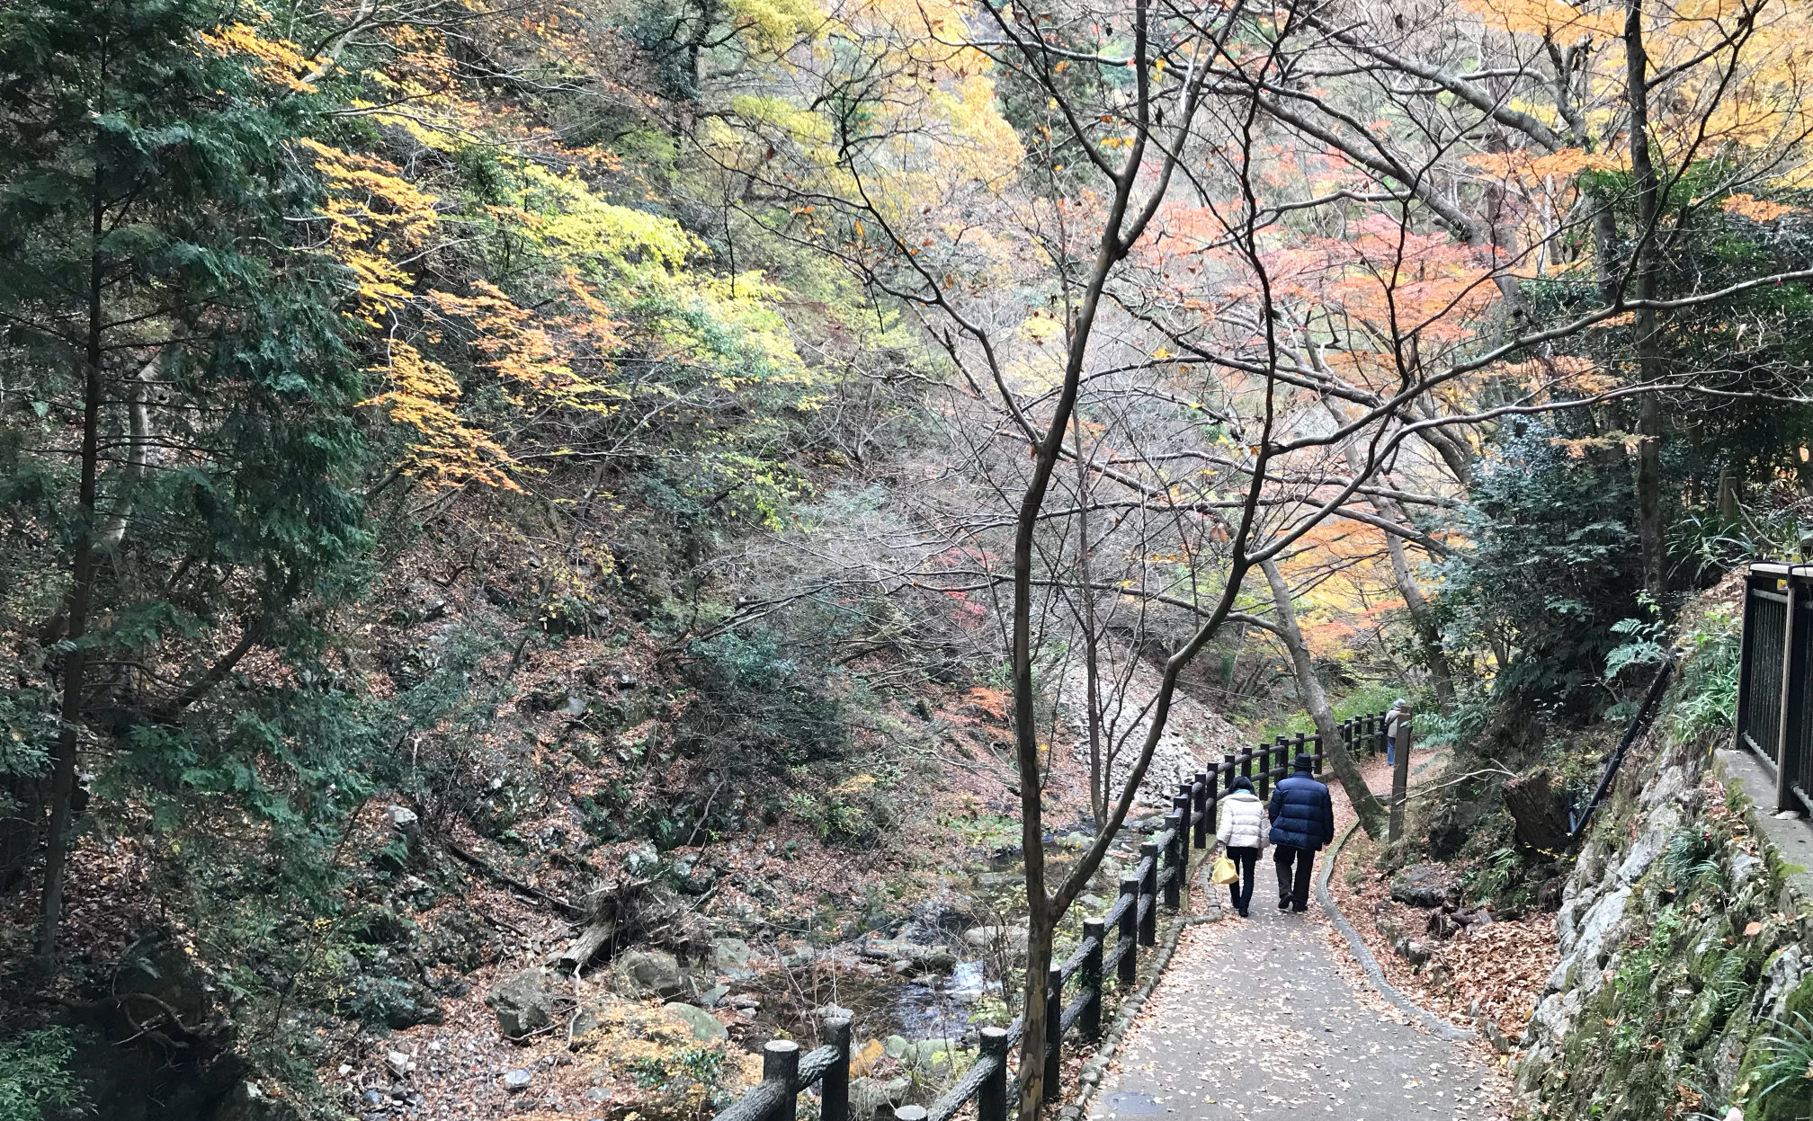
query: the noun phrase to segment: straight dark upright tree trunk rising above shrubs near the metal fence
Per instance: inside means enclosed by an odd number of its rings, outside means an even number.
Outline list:
[[[1661,214],[1655,165],[1650,161],[1650,78],[1643,49],[1643,0],[1624,7],[1624,85],[1630,101],[1630,174],[1637,187],[1637,241],[1632,259],[1634,292],[1655,299],[1655,234]],[[1637,308],[1632,322],[1637,344],[1637,380],[1661,377],[1661,339],[1653,308]],[[1663,545],[1663,409],[1653,393],[1637,404],[1637,543],[1643,549],[1643,585],[1657,603],[1668,590],[1668,558]]]

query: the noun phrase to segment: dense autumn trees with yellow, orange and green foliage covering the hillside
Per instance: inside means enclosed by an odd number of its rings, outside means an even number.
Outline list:
[[[0,0],[0,1117],[154,929],[328,1108],[370,869],[887,849],[954,697],[1030,976],[1175,697],[1628,714],[1804,547],[1808,83],[1786,0]]]

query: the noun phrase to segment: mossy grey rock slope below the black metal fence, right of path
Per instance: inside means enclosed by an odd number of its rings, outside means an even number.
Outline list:
[[[1748,757],[1653,735],[1568,878],[1517,1088],[1557,1119],[1804,1117],[1813,1081],[1764,1096],[1759,1072],[1813,1011],[1806,877],[1782,857],[1813,829],[1759,815]]]

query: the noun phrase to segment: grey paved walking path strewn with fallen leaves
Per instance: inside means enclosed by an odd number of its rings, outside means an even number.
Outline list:
[[[1345,829],[1351,810],[1333,790]],[[1202,878],[1191,887],[1204,891]],[[1220,904],[1224,891],[1215,889]],[[1320,907],[1289,915],[1276,902],[1267,855],[1253,918],[1224,909],[1220,922],[1184,931],[1090,1121],[1510,1116],[1508,1083],[1488,1052],[1407,1023],[1336,958]]]

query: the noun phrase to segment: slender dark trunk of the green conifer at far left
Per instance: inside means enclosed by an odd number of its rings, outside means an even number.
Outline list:
[[[45,960],[56,954],[56,927],[63,916],[63,878],[69,862],[69,822],[76,793],[76,752],[82,730],[82,694],[87,688],[87,650],[82,639],[89,632],[89,599],[94,592],[94,491],[100,469],[102,429],[102,232],[105,206],[102,201],[100,170],[94,174],[94,203],[89,250],[89,337],[82,355],[82,489],[76,509],[76,551],[69,581],[69,654],[63,656],[62,728],[56,735],[56,762],[51,771],[51,835],[45,840],[44,905],[38,916],[38,954]]]

